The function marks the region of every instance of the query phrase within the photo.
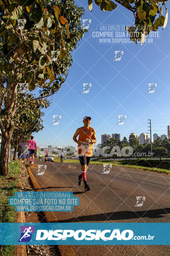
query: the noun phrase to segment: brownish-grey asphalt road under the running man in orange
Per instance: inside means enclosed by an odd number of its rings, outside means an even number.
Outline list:
[[[79,196],[73,212],[56,212],[60,222],[170,222],[170,175],[113,166],[108,174],[102,165],[89,165],[87,173],[91,191],[79,186],[78,163],[45,163],[31,166],[42,191],[72,191]],[[37,165],[45,164],[43,175]],[[136,197],[145,198],[136,205]],[[141,206],[142,205],[142,206]],[[170,256],[170,246],[75,246],[81,256]]]

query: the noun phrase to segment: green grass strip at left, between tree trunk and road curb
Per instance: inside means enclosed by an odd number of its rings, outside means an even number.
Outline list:
[[[19,160],[9,163],[8,176],[0,175],[0,220],[1,222],[15,222],[15,208],[8,205],[8,198],[14,196],[19,181]],[[14,245],[3,245],[0,255],[13,256]]]

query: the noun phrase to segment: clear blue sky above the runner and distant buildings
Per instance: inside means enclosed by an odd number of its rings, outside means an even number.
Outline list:
[[[83,3],[82,3],[83,2]],[[97,144],[101,134],[120,133],[129,137],[131,132],[147,132],[147,119],[153,122],[153,133],[167,134],[170,124],[170,22],[154,35],[153,43],[118,44],[99,43],[93,32],[101,25],[116,25],[119,38],[122,26],[134,23],[133,14],[122,6],[112,12],[102,12],[94,3],[92,12],[88,1],[76,0],[85,7],[83,19],[90,19],[88,33],[73,52],[73,64],[65,84],[53,96],[50,107],[44,109],[43,131],[34,134],[37,145],[74,145],[72,137],[83,126],[84,116],[91,116],[91,127],[96,130]],[[166,3],[168,7],[168,1]],[[114,38],[116,31],[114,31]],[[125,38],[126,35],[125,35]],[[150,40],[151,41],[151,40]],[[123,51],[120,61],[113,61],[114,51]],[[90,83],[89,93],[81,93],[83,83]],[[147,93],[148,83],[156,83],[154,93]],[[51,125],[52,115],[61,115],[58,125]],[[118,115],[125,115],[124,125],[116,125]],[[159,127],[154,127],[159,126]]]

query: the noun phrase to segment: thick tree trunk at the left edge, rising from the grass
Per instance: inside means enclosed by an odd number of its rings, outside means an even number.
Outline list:
[[[0,175],[8,175],[9,147],[13,128],[2,134],[0,147]]]

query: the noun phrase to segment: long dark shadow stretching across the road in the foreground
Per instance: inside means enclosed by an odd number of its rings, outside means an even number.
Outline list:
[[[79,221],[114,221],[114,220],[128,220],[133,218],[162,218],[165,214],[170,213],[170,208],[165,209],[154,209],[149,211],[122,211],[122,212],[108,212],[105,214],[95,214],[95,215],[82,215],[77,218]],[[108,218],[107,218],[108,217]],[[59,222],[74,222],[75,218],[69,218],[65,220],[59,220]],[[77,221],[75,221],[77,222]]]

